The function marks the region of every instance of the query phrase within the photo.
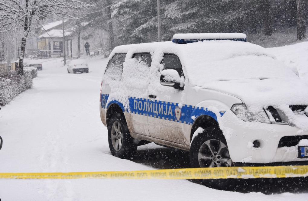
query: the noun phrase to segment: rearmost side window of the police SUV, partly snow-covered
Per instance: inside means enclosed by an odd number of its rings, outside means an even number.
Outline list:
[[[123,62],[125,61],[126,53],[115,54],[106,67],[105,75],[109,78],[120,81],[123,72]]]

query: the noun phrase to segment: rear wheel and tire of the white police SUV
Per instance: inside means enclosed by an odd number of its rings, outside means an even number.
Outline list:
[[[113,156],[121,159],[132,159],[136,154],[134,144],[123,115],[112,115],[108,125],[108,143]]]

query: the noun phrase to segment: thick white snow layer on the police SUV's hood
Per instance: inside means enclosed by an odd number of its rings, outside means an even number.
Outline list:
[[[213,81],[203,87],[237,96],[254,113],[273,106],[284,112],[289,123],[308,131],[308,117],[305,114],[295,114],[290,109],[290,105],[308,105],[308,82],[299,78]]]

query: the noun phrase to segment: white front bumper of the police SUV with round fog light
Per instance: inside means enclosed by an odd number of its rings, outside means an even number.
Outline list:
[[[298,158],[298,147],[278,147],[285,136],[308,135],[297,127],[271,123],[244,122],[232,111],[226,112],[219,120],[234,163],[286,163],[301,162],[308,159]],[[261,142],[260,148],[254,148],[252,142]]]

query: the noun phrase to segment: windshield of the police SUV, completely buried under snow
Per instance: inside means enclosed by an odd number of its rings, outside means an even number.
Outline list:
[[[192,85],[234,79],[297,78],[290,68],[249,42],[204,41],[185,45],[181,54]]]

